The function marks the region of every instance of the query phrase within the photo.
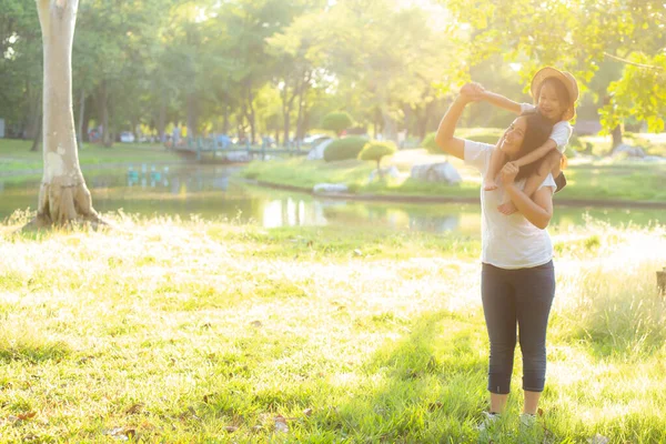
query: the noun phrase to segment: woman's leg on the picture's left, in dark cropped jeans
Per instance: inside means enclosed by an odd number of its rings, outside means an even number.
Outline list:
[[[488,391],[493,413],[502,413],[506,406],[516,347],[515,295],[507,282],[511,272],[483,264],[481,273],[483,313],[491,341]]]

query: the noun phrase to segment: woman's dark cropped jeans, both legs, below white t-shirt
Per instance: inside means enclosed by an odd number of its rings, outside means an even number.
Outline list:
[[[553,261],[517,270],[498,269],[484,263],[481,295],[491,340],[488,391],[509,393],[517,323],[523,352],[523,390],[543,392],[546,381],[546,327],[555,296]]]

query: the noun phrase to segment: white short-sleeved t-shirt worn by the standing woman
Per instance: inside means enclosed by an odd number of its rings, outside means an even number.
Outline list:
[[[493,145],[465,140],[465,163],[486,174],[491,163]],[[504,186],[497,179],[498,189],[485,191],[481,189],[481,260],[500,269],[529,269],[543,265],[553,259],[553,244],[546,230],[533,225],[523,214],[516,212],[504,215],[497,206],[504,199]],[[525,180],[516,182],[523,189]],[[553,193],[557,189],[552,174],[538,189],[551,186]]]

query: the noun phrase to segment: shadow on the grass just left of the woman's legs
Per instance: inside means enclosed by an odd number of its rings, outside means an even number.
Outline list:
[[[484,336],[477,322],[450,312],[417,319],[408,336],[363,365],[366,390],[313,417],[310,442],[332,434],[350,442],[473,441],[486,403],[487,359],[477,353]]]

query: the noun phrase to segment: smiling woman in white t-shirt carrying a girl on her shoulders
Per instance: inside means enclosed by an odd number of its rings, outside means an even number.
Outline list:
[[[436,142],[446,153],[476,167],[482,176],[491,163],[494,145],[457,139],[455,127],[465,105],[474,98],[463,87],[437,130]],[[553,124],[541,114],[518,117],[502,137],[501,149],[508,162],[501,170],[500,188],[481,190],[482,211],[482,301],[491,342],[488,391],[491,410],[484,412],[480,430],[488,430],[506,407],[516,345],[516,324],[523,353],[524,413],[521,424],[532,428],[546,374],[546,326],[555,295],[553,245],[545,228],[553,216],[551,174],[533,199],[523,193],[525,178],[539,162],[518,168],[518,159],[548,139]],[[518,213],[503,215],[497,210],[506,195]]]

